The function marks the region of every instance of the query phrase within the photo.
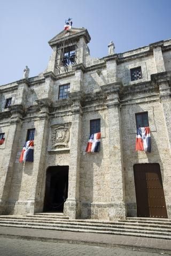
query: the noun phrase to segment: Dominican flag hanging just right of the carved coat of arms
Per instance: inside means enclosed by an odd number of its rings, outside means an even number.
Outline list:
[[[87,144],[86,152],[99,152],[100,138],[101,138],[100,132],[91,134]]]

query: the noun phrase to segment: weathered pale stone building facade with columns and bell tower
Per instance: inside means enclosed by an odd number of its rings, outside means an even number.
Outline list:
[[[149,216],[170,218],[171,40],[100,59],[90,57],[89,41],[85,28],[62,31],[49,41],[44,72],[0,87],[0,214],[138,216],[135,172],[143,168],[150,175],[157,168],[161,187],[155,188],[164,202],[150,207],[166,208],[166,214]],[[136,115],[143,113],[151,153],[135,151]],[[100,123],[98,153],[85,152],[91,121]],[[19,163],[33,130],[34,162]]]

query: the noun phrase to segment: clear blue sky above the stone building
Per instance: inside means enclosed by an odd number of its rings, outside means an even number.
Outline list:
[[[48,41],[61,32],[65,19],[85,27],[91,36],[92,57],[142,47],[171,37],[171,0],[1,0],[0,85],[45,70],[51,48]]]

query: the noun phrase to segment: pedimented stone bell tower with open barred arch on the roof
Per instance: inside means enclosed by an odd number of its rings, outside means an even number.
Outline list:
[[[72,71],[72,67],[85,62],[90,35],[86,28],[64,30],[53,37],[49,44],[53,49],[47,72],[61,74]]]

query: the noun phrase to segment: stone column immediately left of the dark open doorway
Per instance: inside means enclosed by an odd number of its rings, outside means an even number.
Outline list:
[[[46,145],[48,141],[48,128],[49,128],[49,107],[50,100],[42,99],[37,100],[38,106],[41,111],[35,118],[35,138],[34,138],[34,164],[33,164],[33,186],[30,191],[30,197],[27,199],[28,204],[26,212],[34,214],[41,212],[43,209],[43,196],[42,196],[42,180],[44,175],[44,166],[46,159]]]

